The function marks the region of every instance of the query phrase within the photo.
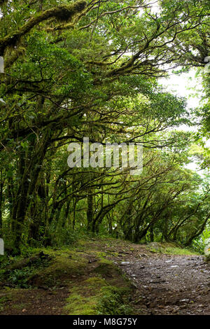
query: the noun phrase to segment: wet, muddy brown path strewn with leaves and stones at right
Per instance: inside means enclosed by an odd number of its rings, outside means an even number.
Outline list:
[[[141,314],[210,314],[210,266],[200,255],[150,255],[121,262]]]

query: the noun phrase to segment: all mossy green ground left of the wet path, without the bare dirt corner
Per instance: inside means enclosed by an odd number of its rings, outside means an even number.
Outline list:
[[[131,314],[134,287],[114,264],[116,249],[130,251],[130,245],[115,239],[83,239],[71,246],[34,248],[2,258],[0,311],[11,307],[8,303],[17,309],[18,294],[24,291],[66,287],[69,297],[63,314]]]

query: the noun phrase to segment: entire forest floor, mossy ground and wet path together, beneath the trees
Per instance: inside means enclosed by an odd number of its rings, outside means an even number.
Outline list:
[[[0,314],[210,314],[210,266],[174,244],[84,239],[0,269]]]

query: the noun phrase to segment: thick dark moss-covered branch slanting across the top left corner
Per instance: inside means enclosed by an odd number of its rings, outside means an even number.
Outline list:
[[[3,55],[6,48],[10,45],[15,45],[22,36],[27,34],[34,26],[48,20],[49,18],[57,18],[60,21],[69,21],[74,15],[80,13],[86,6],[86,2],[83,0],[76,1],[69,6],[57,6],[43,11],[34,18],[31,18],[25,25],[23,25],[13,34],[9,34],[0,39],[0,55]]]

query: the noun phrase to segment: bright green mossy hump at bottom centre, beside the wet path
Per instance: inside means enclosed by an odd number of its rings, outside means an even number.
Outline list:
[[[66,314],[132,314],[130,295],[133,287],[115,265],[99,263],[92,275],[70,289],[64,307]]]

